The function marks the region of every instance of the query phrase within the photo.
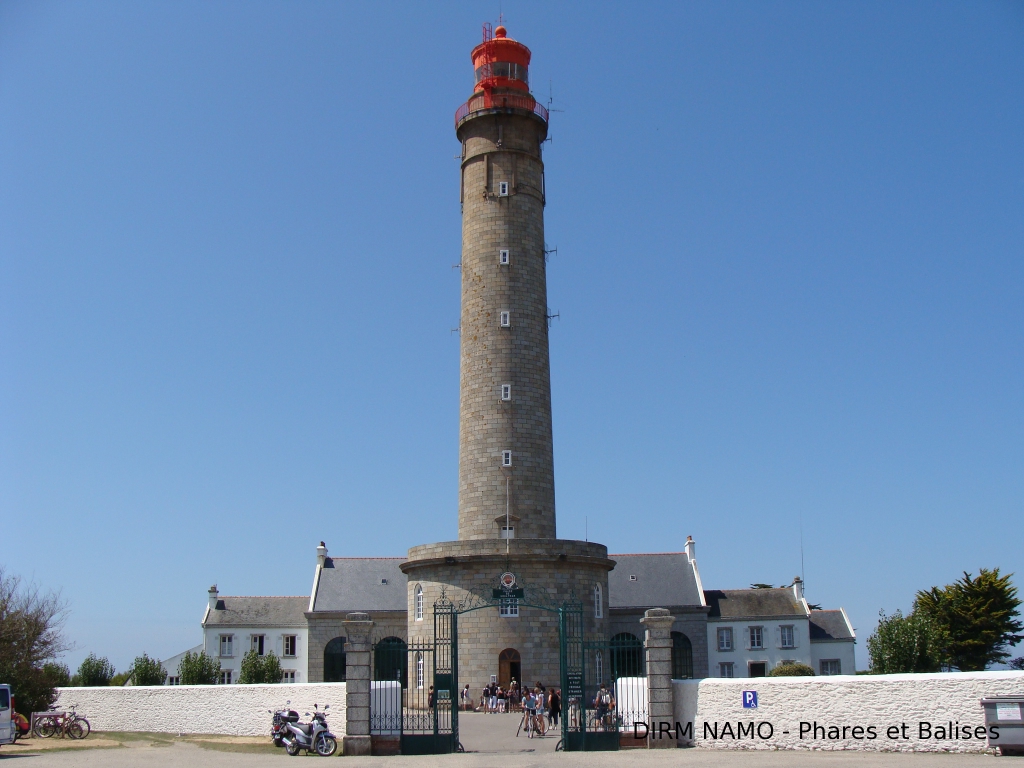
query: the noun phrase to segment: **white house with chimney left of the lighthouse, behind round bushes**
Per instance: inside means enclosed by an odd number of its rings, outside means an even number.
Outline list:
[[[239,681],[242,657],[250,649],[281,659],[282,682],[306,683],[308,597],[231,597],[209,591],[203,614],[203,649],[220,662],[220,683]]]

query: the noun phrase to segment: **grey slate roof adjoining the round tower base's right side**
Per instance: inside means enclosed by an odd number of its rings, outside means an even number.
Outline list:
[[[651,608],[701,605],[685,552],[647,555],[608,555],[615,567],[608,572],[608,605],[612,608]],[[630,579],[636,577],[636,581]]]

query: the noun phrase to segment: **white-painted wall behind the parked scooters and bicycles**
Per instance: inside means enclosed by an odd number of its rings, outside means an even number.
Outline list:
[[[331,705],[331,732],[345,734],[345,683],[155,685],[59,688],[57,707],[76,705],[96,731],[269,736],[270,715],[291,699],[299,715]],[[302,718],[303,721],[306,718]]]

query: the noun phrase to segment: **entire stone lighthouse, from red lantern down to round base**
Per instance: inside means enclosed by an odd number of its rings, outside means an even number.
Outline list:
[[[555,528],[542,147],[548,113],[529,92],[530,51],[504,27],[470,54],[475,84],[456,113],[462,144],[459,539],[413,547],[410,638],[433,632],[443,592],[480,606],[513,575],[521,600],[459,618],[460,686],[490,677],[556,681],[558,618],[578,599],[589,636],[607,634],[603,545]]]

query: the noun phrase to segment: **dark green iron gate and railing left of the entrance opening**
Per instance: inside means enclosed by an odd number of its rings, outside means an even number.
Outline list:
[[[443,755],[459,744],[457,613],[434,603],[434,635],[406,643],[386,637],[373,646],[370,734],[395,737],[402,755]]]

